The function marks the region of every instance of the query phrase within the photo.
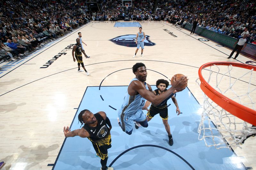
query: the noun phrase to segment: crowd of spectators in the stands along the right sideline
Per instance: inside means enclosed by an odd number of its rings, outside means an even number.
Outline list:
[[[199,27],[234,38],[246,34],[249,42],[256,43],[256,4],[252,0],[162,0],[156,14],[180,26],[198,19]]]

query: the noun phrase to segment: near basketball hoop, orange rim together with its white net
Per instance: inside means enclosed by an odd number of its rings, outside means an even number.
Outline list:
[[[198,139],[217,149],[241,148],[240,143],[256,133],[256,66],[211,62],[202,65],[198,75],[201,84],[196,82],[204,92]]]

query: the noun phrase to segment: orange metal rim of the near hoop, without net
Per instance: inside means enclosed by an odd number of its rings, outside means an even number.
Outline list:
[[[201,81],[200,88],[212,101],[214,101],[216,104],[218,104],[220,107],[222,107],[232,115],[235,115],[236,117],[244,120],[245,122],[256,126],[256,110],[245,107],[240,103],[237,103],[224,96],[223,94],[215,90],[211,85],[209,85],[207,81],[203,78],[202,70],[212,65],[232,65],[233,67],[240,67],[248,70],[253,69],[253,71],[256,71],[256,66],[235,62],[210,62],[202,65],[198,70],[199,79]]]

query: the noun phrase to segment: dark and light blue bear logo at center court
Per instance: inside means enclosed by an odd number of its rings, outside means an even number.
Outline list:
[[[149,40],[148,35],[145,35],[146,39],[144,40],[144,46],[154,46],[156,43]],[[114,42],[117,45],[126,46],[126,47],[137,47],[136,44],[136,35],[135,34],[129,34],[129,35],[121,35],[118,37],[115,37],[109,41]]]

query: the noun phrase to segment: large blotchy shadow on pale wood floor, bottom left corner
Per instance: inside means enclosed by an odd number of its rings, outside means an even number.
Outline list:
[[[44,145],[38,145],[36,147],[26,147],[24,145],[21,145],[19,149],[21,149],[23,152],[20,153],[17,157],[17,154],[7,156],[3,159],[4,162],[6,162],[6,167],[5,169],[19,169],[18,165],[12,165],[9,164],[8,162],[16,162],[22,163],[24,159],[29,160],[28,164],[26,164],[25,167],[22,167],[23,169],[30,169],[34,166],[36,166],[39,163],[42,163],[46,159],[48,159],[49,154],[48,152],[54,151],[59,147],[58,144],[53,144],[49,147],[45,147]],[[25,165],[25,164],[22,164]],[[21,166],[21,165],[20,165]],[[38,168],[38,167],[37,167]],[[36,169],[37,169],[36,168]]]

